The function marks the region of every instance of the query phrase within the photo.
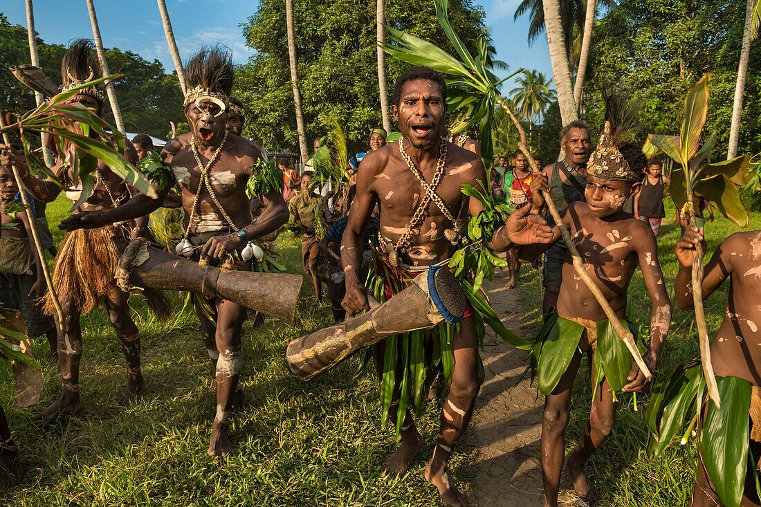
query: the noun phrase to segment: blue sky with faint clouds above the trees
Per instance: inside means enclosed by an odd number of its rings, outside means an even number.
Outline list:
[[[368,0],[369,1],[369,0]],[[387,2],[400,0],[387,0]],[[511,69],[524,67],[552,75],[546,39],[527,43],[527,18],[513,21],[521,0],[476,0],[486,11],[486,24],[499,59]],[[5,0],[0,11],[8,21],[26,26],[23,0]],[[129,49],[145,59],[159,59],[174,69],[155,0],[94,0],[103,44]],[[183,60],[202,43],[223,43],[233,50],[235,62],[245,62],[252,51],[245,44],[240,23],[256,9],[256,0],[167,0],[177,46]],[[65,44],[78,37],[92,37],[84,0],[34,0],[34,24],[48,43]],[[506,87],[510,89],[509,84]]]

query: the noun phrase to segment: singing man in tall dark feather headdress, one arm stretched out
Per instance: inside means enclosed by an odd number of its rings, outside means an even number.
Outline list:
[[[226,130],[233,86],[229,53],[217,47],[202,49],[189,60],[185,75],[189,91],[183,109],[191,128],[190,139],[187,145],[173,139],[162,153],[182,188],[185,222],[179,250],[200,263],[249,270],[250,261],[241,259],[247,243],[283,225],[288,210],[279,190],[270,190],[260,196],[265,209],[252,222],[246,184],[257,177],[254,166],[261,153],[252,143]],[[159,199],[135,196],[109,212],[72,215],[62,222],[62,227],[91,228],[146,215],[161,206],[167,192],[165,189]],[[226,456],[232,451],[228,419],[234,399],[240,396],[236,394],[243,364],[240,340],[247,311],[223,299],[210,302],[212,315],[200,308],[204,305],[196,305],[201,335],[217,380],[217,413],[209,454]]]

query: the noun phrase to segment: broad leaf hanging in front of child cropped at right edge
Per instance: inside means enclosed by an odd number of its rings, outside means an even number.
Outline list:
[[[716,494],[727,507],[743,498],[748,452],[750,382],[717,378],[721,408],[708,400],[700,435],[700,451]]]

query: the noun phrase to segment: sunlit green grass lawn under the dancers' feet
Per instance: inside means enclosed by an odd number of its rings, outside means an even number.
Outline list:
[[[62,199],[49,206],[50,223],[66,214]],[[673,209],[669,209],[673,216]],[[751,228],[761,228],[754,215]],[[707,228],[712,250],[736,231],[717,218]],[[59,231],[54,231],[56,234]],[[659,243],[667,286],[673,292],[677,263],[673,244],[679,228],[666,225]],[[56,234],[60,241],[61,234]],[[279,252],[291,273],[301,272],[298,241],[281,239]],[[524,269],[528,269],[524,267]],[[521,286],[527,311],[540,305],[536,277]],[[135,321],[141,330],[145,398],[123,410],[116,398],[124,387],[126,368],[113,329],[103,311],[84,317],[81,397],[77,416],[37,422],[23,410],[12,410],[9,368],[0,365],[0,403],[23,449],[26,477],[0,490],[2,505],[439,505],[438,494],[422,478],[438,428],[438,409],[431,405],[421,421],[425,445],[421,457],[404,478],[380,474],[380,463],[393,451],[390,426],[380,423],[374,375],[352,379],[352,359],[320,378],[304,383],[288,372],[285,346],[289,340],[331,323],[327,305],[314,305],[304,283],[295,324],[267,320],[244,336],[246,363],[241,383],[250,405],[236,413],[231,438],[236,453],[224,461],[206,455],[215,413],[212,368],[189,311],[172,320],[150,316],[134,298]],[[632,314],[646,336],[650,301],[635,275],[630,292]],[[709,330],[721,321],[726,287],[707,301]],[[174,300],[177,309],[180,302]],[[693,317],[675,311],[662,374],[677,362],[697,355]],[[45,340],[38,340],[40,356]],[[59,395],[56,366],[45,368],[41,405]],[[568,447],[581,435],[591,392],[588,371],[582,371],[568,429]],[[601,505],[684,505],[693,486],[693,445],[671,448],[658,461],[648,461],[645,447],[644,402],[631,410],[625,396],[619,421],[589,465],[591,480],[603,493]],[[454,476],[466,482],[473,449],[453,458]],[[539,487],[540,485],[537,485]],[[463,488],[466,489],[466,488]]]

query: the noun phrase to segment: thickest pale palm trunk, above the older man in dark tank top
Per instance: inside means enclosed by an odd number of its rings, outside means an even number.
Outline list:
[[[576,102],[573,96],[568,53],[565,51],[565,37],[560,19],[560,4],[559,0],[544,0],[542,4],[544,27],[547,33],[547,46],[549,47],[549,61],[552,63],[552,75],[555,77],[560,118],[563,125],[568,125],[573,120],[578,120],[578,113],[576,113]]]

